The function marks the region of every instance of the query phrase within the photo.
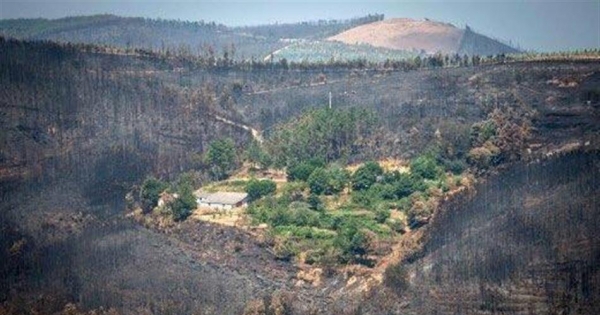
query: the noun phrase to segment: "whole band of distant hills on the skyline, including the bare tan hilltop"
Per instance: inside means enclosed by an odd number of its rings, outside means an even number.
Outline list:
[[[228,27],[114,15],[0,20],[0,36],[148,49],[167,54],[303,62],[410,59],[425,54],[496,55],[517,49],[452,24],[382,14],[348,20]]]

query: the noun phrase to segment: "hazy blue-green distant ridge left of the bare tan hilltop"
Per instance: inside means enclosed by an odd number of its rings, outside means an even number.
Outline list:
[[[0,35],[27,40],[110,45],[228,58],[264,58],[289,39],[322,39],[365,23],[383,20],[367,15],[349,20],[228,27],[214,22],[93,15],[61,19],[0,21]]]

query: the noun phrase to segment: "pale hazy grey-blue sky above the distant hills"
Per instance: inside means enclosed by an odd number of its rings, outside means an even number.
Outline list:
[[[600,47],[600,0],[574,1],[166,1],[0,0],[0,18],[112,13],[164,19],[255,25],[346,19],[368,13],[386,18],[430,18],[465,24],[485,35],[537,51]]]

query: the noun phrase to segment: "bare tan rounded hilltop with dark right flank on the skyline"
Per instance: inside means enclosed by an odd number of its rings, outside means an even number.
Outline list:
[[[360,25],[329,37],[349,45],[368,44],[393,50],[426,54],[494,55],[517,53],[517,49],[465,29],[432,20],[389,19]]]

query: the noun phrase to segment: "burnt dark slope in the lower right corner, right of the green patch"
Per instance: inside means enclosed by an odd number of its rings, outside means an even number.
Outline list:
[[[517,164],[441,206],[368,314],[595,314],[600,152]],[[399,299],[400,301],[390,302]]]

